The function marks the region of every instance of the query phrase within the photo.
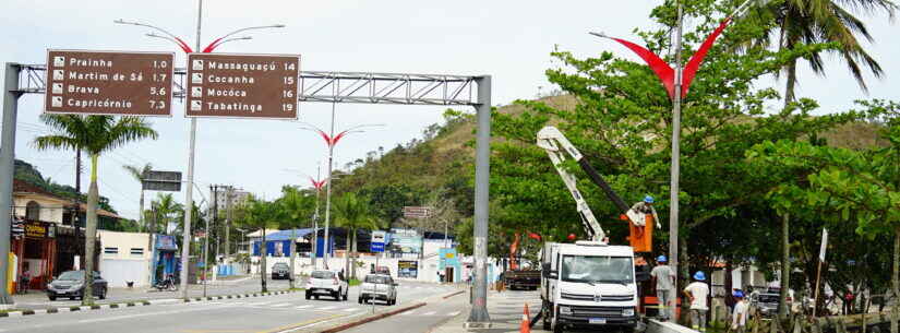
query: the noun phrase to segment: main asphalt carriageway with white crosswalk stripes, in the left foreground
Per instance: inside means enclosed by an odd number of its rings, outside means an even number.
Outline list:
[[[394,307],[455,290],[457,289],[452,286],[400,282],[399,304]],[[291,293],[218,301],[173,302],[0,318],[0,332],[279,332],[286,328],[296,326],[314,330],[316,325],[325,325],[328,321],[369,313],[371,305],[360,305],[355,301],[358,293],[359,287],[351,287],[348,301],[335,301],[327,298],[307,300],[303,293]],[[455,296],[454,298],[457,299],[453,301],[461,299],[459,297]],[[387,306],[376,305],[376,307],[383,309]],[[434,311],[436,314],[437,310]]]

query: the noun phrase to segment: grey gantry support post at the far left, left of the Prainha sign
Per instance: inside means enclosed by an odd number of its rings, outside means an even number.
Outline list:
[[[3,81],[3,129],[0,141],[0,310],[14,304],[9,294],[10,226],[12,225],[12,182],[15,158],[15,117],[19,112],[19,72],[22,66],[7,62]]]

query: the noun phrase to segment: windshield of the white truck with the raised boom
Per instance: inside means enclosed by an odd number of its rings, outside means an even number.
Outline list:
[[[562,280],[584,283],[634,282],[631,257],[563,255]]]

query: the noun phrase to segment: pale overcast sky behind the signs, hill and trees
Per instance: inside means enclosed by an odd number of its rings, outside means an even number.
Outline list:
[[[207,0],[202,40],[206,45],[237,28],[281,23],[287,27],[254,32],[252,40],[229,43],[217,51],[301,55],[302,70],[490,74],[493,103],[505,105],[535,97],[541,86],[544,92],[552,88],[543,72],[551,67],[549,53],[554,45],[581,57],[611,50],[634,58],[620,45],[587,32],[637,39],[633,28],[652,27],[647,15],[660,2]],[[116,19],[164,27],[190,45],[196,29],[196,1],[184,0],[4,0],[0,15],[3,62],[43,63],[47,48],[178,51],[165,40],[144,37],[149,29],[117,25]],[[900,99],[900,45],[893,40],[898,25],[884,17],[866,21],[878,40],[868,49],[881,62],[886,78],[869,78],[866,96],[836,57],[829,57],[827,78],[817,78],[803,66],[799,95],[818,99],[824,112],[845,110],[857,98]],[[179,67],[183,59],[177,56]],[[16,158],[34,164],[45,177],[72,185],[73,153],[37,152],[31,146],[35,136],[47,131],[38,120],[41,98],[27,95],[21,99]],[[337,129],[387,126],[341,141],[336,160],[344,165],[379,146],[389,150],[420,136],[425,126],[441,121],[443,109],[337,105]],[[300,111],[301,121],[327,128],[331,105],[301,104]],[[100,194],[110,198],[127,217],[137,216],[140,186],[122,170],[123,164],[152,163],[156,169],[187,170],[190,122],[183,118],[183,105],[176,103],[172,114],[172,118],[151,119],[159,140],[129,144],[100,159]],[[322,139],[299,127],[291,121],[200,119],[195,180],[203,195],[208,198],[212,183],[233,185],[268,199],[278,195],[281,185],[307,185],[304,178],[285,169],[315,175],[326,150]],[[86,181],[83,178],[84,188]],[[183,192],[176,195],[183,201]],[[194,198],[202,197],[195,191]]]

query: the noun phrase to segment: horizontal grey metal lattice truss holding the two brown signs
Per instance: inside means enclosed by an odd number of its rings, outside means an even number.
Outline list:
[[[20,76],[19,92],[43,94],[45,64],[27,64]],[[175,69],[172,97],[184,98],[184,68]],[[477,76],[367,72],[300,72],[300,102],[476,105],[472,94]]]

